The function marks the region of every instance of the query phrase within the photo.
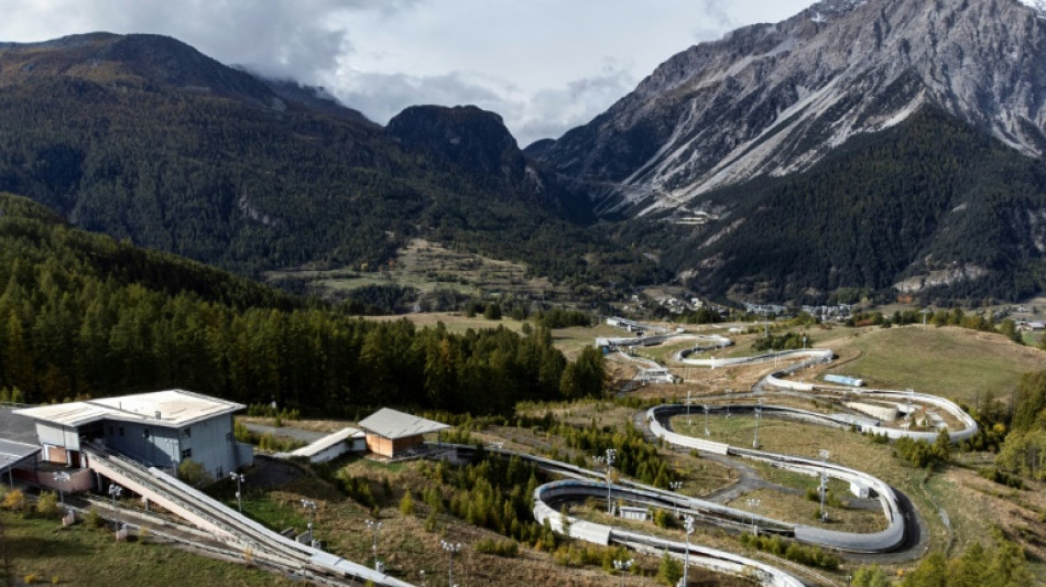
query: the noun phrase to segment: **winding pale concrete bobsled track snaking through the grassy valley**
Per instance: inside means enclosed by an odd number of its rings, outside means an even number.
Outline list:
[[[698,348],[722,348],[728,346],[721,339],[702,343],[705,343],[705,345]],[[708,343],[711,343],[711,345],[708,345]],[[691,352],[694,350],[696,349],[690,349]],[[731,401],[729,405],[719,404],[717,406],[709,406],[709,411],[732,409],[734,412],[743,412],[759,407],[781,417],[842,430],[859,428],[864,433],[885,434],[890,438],[909,437],[935,441],[938,436],[936,432],[908,431],[885,426],[882,425],[881,422],[869,417],[856,417],[848,414],[822,414],[788,406],[763,405],[762,402],[754,403],[751,401],[753,396],[759,396],[769,389],[777,389],[781,390],[782,393],[792,396],[828,398],[837,402],[876,400],[886,404],[896,404],[901,411],[903,411],[906,404],[909,413],[913,403],[930,405],[936,410],[947,412],[954,421],[960,423],[958,430],[949,432],[952,442],[969,438],[977,433],[977,422],[973,421],[972,417],[954,402],[935,395],[914,393],[912,391],[862,390],[847,387],[815,385],[813,383],[794,382],[785,379],[816,363],[830,362],[835,358],[835,355],[830,350],[797,350],[730,359],[687,359],[685,358],[687,355],[689,355],[689,352],[684,351],[677,356],[677,359],[686,365],[706,367],[781,362],[782,360],[800,359],[794,365],[780,370],[775,369],[763,378],[753,388],[751,393],[706,398]],[[738,402],[739,399],[747,400],[747,403]],[[815,477],[824,475],[851,483],[851,486],[865,488],[869,490],[869,494],[876,498],[880,502],[880,507],[886,520],[885,530],[870,533],[851,533],[807,524],[784,522],[642,483],[621,481],[617,485],[608,485],[600,480],[600,474],[566,463],[503,449],[490,448],[487,449],[487,452],[504,458],[519,456],[534,463],[546,472],[566,477],[567,479],[565,480],[553,481],[535,489],[534,517],[542,523],[547,520],[553,530],[557,532],[563,532],[565,526],[564,518],[566,518],[566,526],[569,529],[568,531],[571,537],[598,544],[621,545],[641,552],[668,552],[678,558],[684,557],[688,547],[688,545],[683,542],[626,531],[607,524],[588,522],[574,517],[564,517],[559,511],[559,506],[568,502],[581,502],[589,498],[597,498],[609,499],[613,502],[630,506],[672,509],[676,511],[678,515],[690,515],[695,521],[723,529],[744,531],[754,526],[758,528],[761,533],[777,534],[802,543],[849,553],[881,554],[894,552],[907,544],[913,534],[915,536],[918,535],[917,515],[912,509],[911,503],[907,499],[900,498],[898,493],[884,481],[860,470],[842,467],[827,460],[816,460],[798,456],[741,448],[673,432],[669,423],[671,417],[686,413],[688,407],[690,406],[686,404],[674,404],[650,409],[645,413],[645,421],[651,434],[678,447],[763,461],[772,467]],[[466,446],[458,446],[457,449],[459,456],[462,458],[471,456],[470,452],[476,450],[476,448]],[[690,564],[713,572],[754,576],[763,585],[804,585],[803,581],[794,575],[780,568],[744,556],[706,548],[695,544],[689,544],[688,558]]]

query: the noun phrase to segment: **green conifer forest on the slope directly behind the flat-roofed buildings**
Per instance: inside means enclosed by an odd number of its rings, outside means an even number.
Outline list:
[[[0,195],[0,388],[25,402],[185,388],[305,413],[411,405],[511,413],[599,393],[595,349],[548,330],[455,335],[374,323],[70,228]]]

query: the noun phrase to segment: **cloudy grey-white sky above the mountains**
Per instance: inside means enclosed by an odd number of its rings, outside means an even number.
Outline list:
[[[521,146],[609,108],[658,64],[814,0],[0,0],[0,41],[173,36],[322,86],[386,123],[420,104],[501,115]]]

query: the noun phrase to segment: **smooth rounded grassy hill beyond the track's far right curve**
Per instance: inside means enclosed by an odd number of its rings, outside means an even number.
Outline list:
[[[987,393],[1007,395],[1023,373],[1046,368],[1046,351],[955,327],[863,330],[832,348],[856,357],[832,372],[860,377],[870,387],[911,388],[968,404]]]

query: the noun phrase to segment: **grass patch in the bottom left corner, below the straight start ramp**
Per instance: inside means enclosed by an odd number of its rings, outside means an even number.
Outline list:
[[[106,530],[84,524],[63,529],[54,520],[0,512],[15,578],[36,583],[111,587],[113,585],[295,585],[244,565],[215,561],[173,546],[116,542]],[[21,585],[22,583],[19,583]]]

